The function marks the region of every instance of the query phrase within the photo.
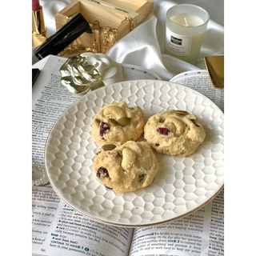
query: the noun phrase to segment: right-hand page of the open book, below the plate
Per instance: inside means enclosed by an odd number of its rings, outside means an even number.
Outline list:
[[[223,191],[202,209],[173,222],[134,230],[130,256],[224,255]]]

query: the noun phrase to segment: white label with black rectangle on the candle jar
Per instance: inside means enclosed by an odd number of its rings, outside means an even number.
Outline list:
[[[175,34],[166,28],[166,50],[171,54],[187,56],[190,55],[192,37]]]

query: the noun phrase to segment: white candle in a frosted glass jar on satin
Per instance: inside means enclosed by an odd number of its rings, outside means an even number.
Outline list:
[[[209,22],[199,6],[181,4],[166,13],[166,54],[194,64],[198,59]]]

